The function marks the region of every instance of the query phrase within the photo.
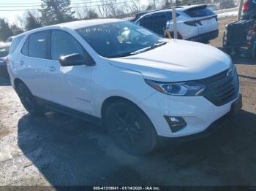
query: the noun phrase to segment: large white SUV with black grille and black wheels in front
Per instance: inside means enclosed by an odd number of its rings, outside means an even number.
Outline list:
[[[208,130],[241,109],[236,68],[215,47],[161,39],[116,20],[38,28],[12,42],[8,71],[31,114],[45,108],[104,124],[124,151]]]

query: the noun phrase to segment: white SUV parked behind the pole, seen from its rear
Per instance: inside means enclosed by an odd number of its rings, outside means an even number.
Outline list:
[[[177,7],[176,20],[178,39],[208,42],[217,38],[219,34],[217,15],[206,5]],[[172,9],[146,13],[135,23],[154,31],[160,36],[165,36],[165,29],[168,28],[173,36]]]

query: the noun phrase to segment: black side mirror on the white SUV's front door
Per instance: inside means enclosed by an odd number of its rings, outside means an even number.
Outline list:
[[[61,66],[80,66],[80,65],[91,66],[92,65],[91,61],[87,61],[86,58],[84,58],[83,55],[80,55],[80,54],[71,54],[71,55],[61,56],[61,58],[59,58],[59,63],[61,63]]]

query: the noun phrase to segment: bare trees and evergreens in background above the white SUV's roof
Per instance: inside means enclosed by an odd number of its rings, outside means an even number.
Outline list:
[[[136,12],[166,8],[171,4],[171,0],[148,0],[148,5],[143,7],[140,6],[140,0],[99,0],[97,6],[87,3],[83,7],[71,7],[70,0],[41,1],[40,9],[27,10],[23,17],[18,17],[18,21],[12,25],[0,17],[0,41],[41,26],[99,17],[129,17]]]

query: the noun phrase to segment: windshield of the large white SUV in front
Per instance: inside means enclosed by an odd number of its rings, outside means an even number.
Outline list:
[[[162,42],[157,34],[127,21],[89,26],[76,31],[99,55],[106,58],[132,55],[132,52]]]

